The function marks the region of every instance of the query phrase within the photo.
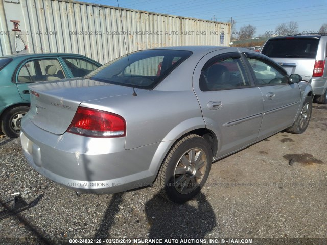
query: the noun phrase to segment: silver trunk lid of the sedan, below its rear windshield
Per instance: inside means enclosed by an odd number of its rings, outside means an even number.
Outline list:
[[[58,135],[66,132],[82,102],[132,94],[130,87],[82,78],[33,84],[29,89],[27,116],[39,128]]]

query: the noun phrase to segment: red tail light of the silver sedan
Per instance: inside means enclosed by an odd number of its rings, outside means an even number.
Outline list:
[[[79,107],[67,131],[97,138],[123,137],[126,122],[123,117],[113,113]]]

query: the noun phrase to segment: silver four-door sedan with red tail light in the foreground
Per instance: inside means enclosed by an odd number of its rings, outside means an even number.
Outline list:
[[[155,185],[192,199],[211,164],[309,124],[312,88],[242,48],[144,50],[84,78],[33,84],[21,145],[41,175],[77,193]]]

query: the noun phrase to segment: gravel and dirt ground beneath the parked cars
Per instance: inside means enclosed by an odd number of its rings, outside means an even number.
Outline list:
[[[326,130],[327,105],[314,104],[305,133],[281,132],[214,163],[201,193],[183,205],[162,199],[154,187],[76,197],[28,165],[19,139],[1,138],[1,200],[20,192],[30,208],[0,220],[0,243],[249,238],[326,244]]]

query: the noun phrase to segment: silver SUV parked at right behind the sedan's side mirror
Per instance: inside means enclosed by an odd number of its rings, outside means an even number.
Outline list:
[[[274,59],[289,74],[311,83],[315,101],[327,104],[327,35],[293,35],[270,38],[261,53]]]

